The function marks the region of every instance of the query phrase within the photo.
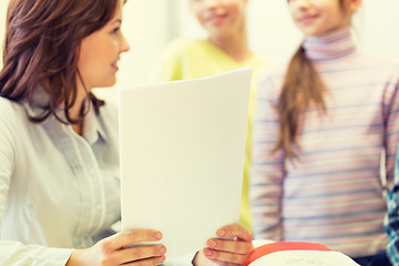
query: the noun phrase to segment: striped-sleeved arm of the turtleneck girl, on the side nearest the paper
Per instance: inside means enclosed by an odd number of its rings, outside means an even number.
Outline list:
[[[277,92],[270,78],[260,80],[253,120],[249,198],[255,239],[282,239],[283,150],[270,153],[278,137]],[[275,94],[275,95],[273,95]]]

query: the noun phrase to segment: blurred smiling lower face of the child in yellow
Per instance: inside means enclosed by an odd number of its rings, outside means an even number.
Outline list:
[[[247,0],[190,0],[198,22],[211,38],[231,38],[245,27]]]

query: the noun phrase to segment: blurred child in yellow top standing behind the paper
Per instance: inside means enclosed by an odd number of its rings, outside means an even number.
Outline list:
[[[242,66],[253,66],[254,76],[267,65],[267,61],[253,53],[246,31],[246,4],[248,0],[188,0],[200,24],[208,32],[206,40],[173,41],[167,48],[157,71],[156,81],[197,79]],[[248,203],[248,174],[250,166],[250,127],[253,99],[249,99],[248,131],[246,141],[242,209],[239,223],[250,229]]]

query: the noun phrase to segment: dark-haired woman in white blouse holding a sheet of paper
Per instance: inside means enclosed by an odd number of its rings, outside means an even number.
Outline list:
[[[91,92],[115,83],[129,44],[119,0],[11,0],[0,72],[1,265],[157,265],[162,233],[110,236],[120,218],[117,115]],[[221,229],[209,258],[247,258]],[[219,232],[219,233],[221,233]],[[137,246],[142,242],[153,242]],[[241,247],[236,254],[232,247]],[[245,249],[245,252],[243,252]],[[242,263],[243,263],[242,262]]]

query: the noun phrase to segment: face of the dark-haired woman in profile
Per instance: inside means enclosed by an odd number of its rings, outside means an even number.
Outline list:
[[[116,82],[120,54],[130,49],[121,31],[122,6],[120,1],[114,18],[82,40],[78,68],[88,90]]]

